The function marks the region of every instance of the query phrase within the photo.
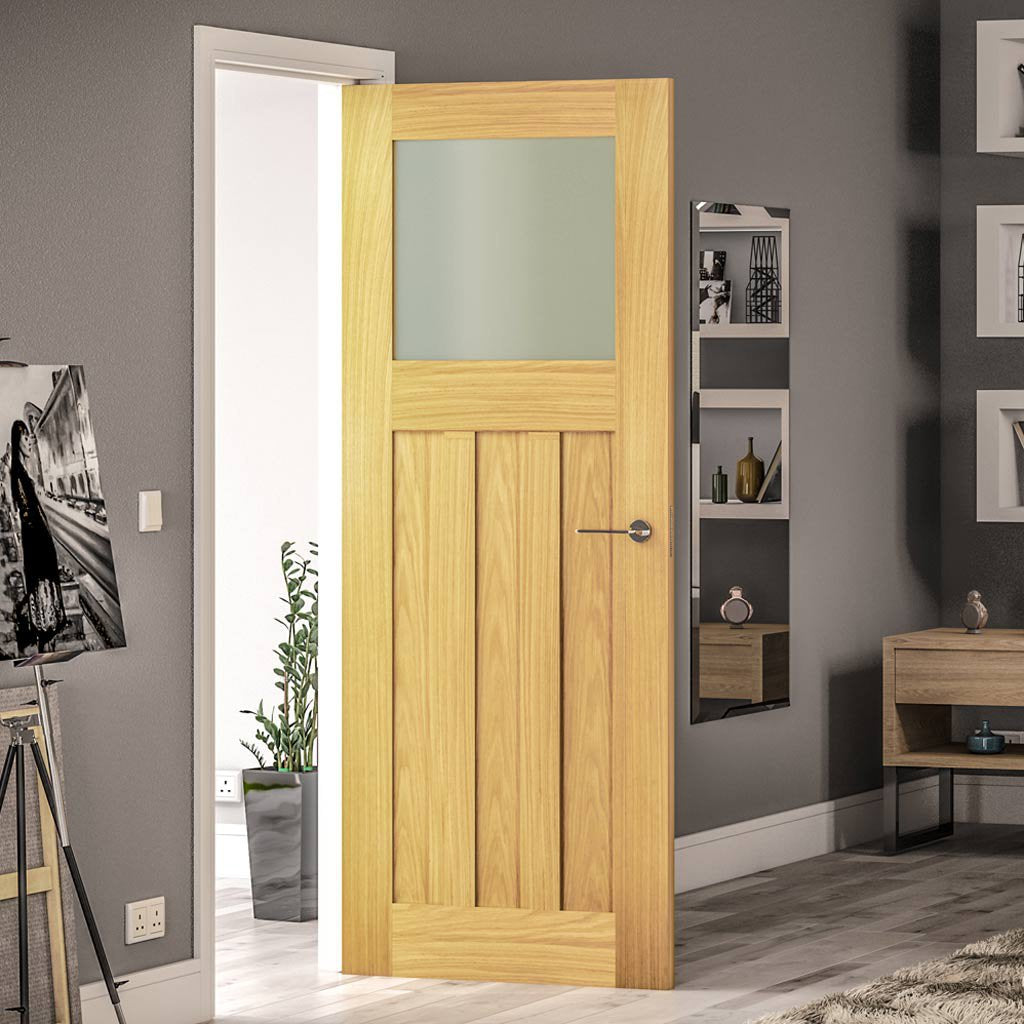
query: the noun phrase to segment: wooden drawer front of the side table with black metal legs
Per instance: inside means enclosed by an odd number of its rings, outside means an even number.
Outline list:
[[[1024,652],[897,649],[897,703],[1024,706]]]

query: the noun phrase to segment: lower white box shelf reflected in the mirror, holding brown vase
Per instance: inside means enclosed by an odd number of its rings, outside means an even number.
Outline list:
[[[780,502],[740,502],[730,499],[725,505],[715,505],[711,500],[711,475],[721,462],[729,474],[729,494],[735,494],[736,461],[746,454],[742,446],[746,436],[739,432],[730,437],[735,455],[726,464],[724,457],[716,455],[710,436],[714,429],[714,411],[749,412],[750,432],[755,436],[755,454],[764,460],[765,471],[775,454],[775,445],[782,442],[780,471],[782,473],[782,500]],[[781,388],[708,388],[700,392],[700,454],[698,480],[694,481],[700,495],[701,519],[788,519],[790,518],[790,392]],[[746,429],[744,427],[744,429]],[[735,428],[733,428],[735,432]],[[767,437],[767,443],[765,438]],[[706,440],[707,438],[707,440]],[[761,443],[758,444],[758,438]]]

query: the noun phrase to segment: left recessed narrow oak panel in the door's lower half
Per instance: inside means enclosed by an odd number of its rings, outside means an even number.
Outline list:
[[[429,435],[394,434],[394,900],[430,885]]]

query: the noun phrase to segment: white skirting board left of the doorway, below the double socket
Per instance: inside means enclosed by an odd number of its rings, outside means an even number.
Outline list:
[[[119,990],[125,1016],[144,1024],[203,1024],[200,962],[182,961],[127,976]],[[116,1024],[106,988],[97,981],[82,986],[82,1024]]]

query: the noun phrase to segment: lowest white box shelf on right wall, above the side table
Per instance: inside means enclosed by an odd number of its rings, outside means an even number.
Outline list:
[[[978,522],[1024,522],[1024,391],[979,391]]]

